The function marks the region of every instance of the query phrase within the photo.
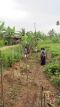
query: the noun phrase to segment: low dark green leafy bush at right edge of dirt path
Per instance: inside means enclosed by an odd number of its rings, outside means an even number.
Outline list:
[[[60,87],[60,66],[57,63],[49,63],[45,67],[45,73],[56,87]]]

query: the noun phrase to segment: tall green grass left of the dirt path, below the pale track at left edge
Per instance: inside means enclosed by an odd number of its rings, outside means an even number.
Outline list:
[[[19,45],[1,48],[0,50],[0,58],[2,58],[3,66],[6,68],[19,61],[22,56],[21,46]]]

